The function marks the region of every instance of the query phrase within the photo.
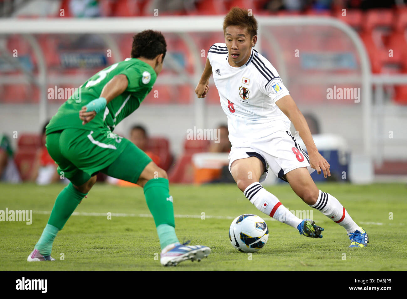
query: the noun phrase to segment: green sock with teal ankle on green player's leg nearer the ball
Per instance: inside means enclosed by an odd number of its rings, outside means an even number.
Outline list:
[[[147,206],[157,227],[161,250],[169,244],[177,243],[173,198],[169,194],[168,179],[151,179],[144,185]]]

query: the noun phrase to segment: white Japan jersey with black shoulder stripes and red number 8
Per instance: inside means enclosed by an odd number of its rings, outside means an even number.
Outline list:
[[[208,59],[222,109],[228,116],[232,146],[248,146],[276,131],[290,130],[289,118],[276,105],[289,92],[267,59],[252,49],[247,63],[234,68],[228,62],[224,43],[211,46]]]

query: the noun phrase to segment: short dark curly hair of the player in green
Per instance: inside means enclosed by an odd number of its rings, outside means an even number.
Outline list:
[[[131,58],[144,57],[154,59],[157,55],[167,52],[167,43],[160,31],[144,30],[133,36]]]

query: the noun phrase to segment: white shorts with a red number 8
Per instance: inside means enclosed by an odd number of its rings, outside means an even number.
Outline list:
[[[235,160],[248,157],[258,157],[265,166],[260,182],[267,178],[268,168],[283,181],[286,180],[282,176],[295,168],[306,167],[310,174],[315,170],[309,165],[308,155],[290,131],[277,131],[266,140],[253,140],[250,146],[232,146],[229,153],[229,171],[231,172],[230,166]]]

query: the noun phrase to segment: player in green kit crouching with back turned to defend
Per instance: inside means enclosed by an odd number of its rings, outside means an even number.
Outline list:
[[[51,250],[58,231],[88,194],[99,171],[144,188],[160,239],[161,264],[175,266],[209,255],[209,247],[179,243],[166,172],[132,142],[112,133],[151,91],[165,54],[162,33],[138,33],[133,37],[131,58],[92,76],[50,120],[46,146],[59,173],[70,183],[57,196],[48,224],[27,258],[29,262],[54,260]]]

